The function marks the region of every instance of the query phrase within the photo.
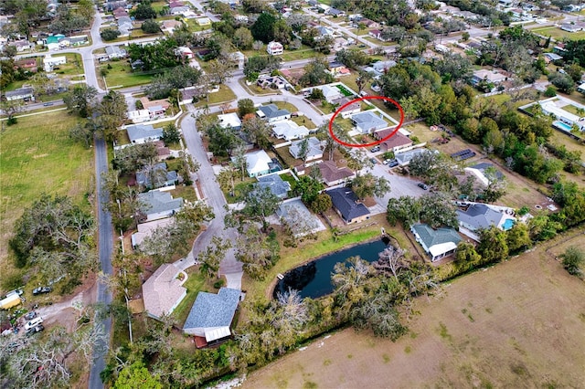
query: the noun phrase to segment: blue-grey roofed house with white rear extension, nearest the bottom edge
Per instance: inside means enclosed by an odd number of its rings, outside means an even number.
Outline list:
[[[234,319],[240,291],[221,288],[218,294],[200,291],[183,325],[183,332],[195,335],[199,345],[212,345],[231,336],[229,327]]]

